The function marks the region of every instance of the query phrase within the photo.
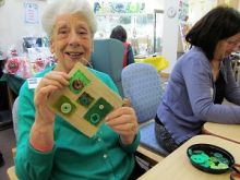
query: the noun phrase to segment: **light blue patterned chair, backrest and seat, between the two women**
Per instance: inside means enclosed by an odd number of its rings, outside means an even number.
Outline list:
[[[168,153],[155,137],[154,117],[161,99],[160,76],[152,64],[133,63],[122,70],[124,97],[135,109],[140,123],[141,146],[165,157]]]

